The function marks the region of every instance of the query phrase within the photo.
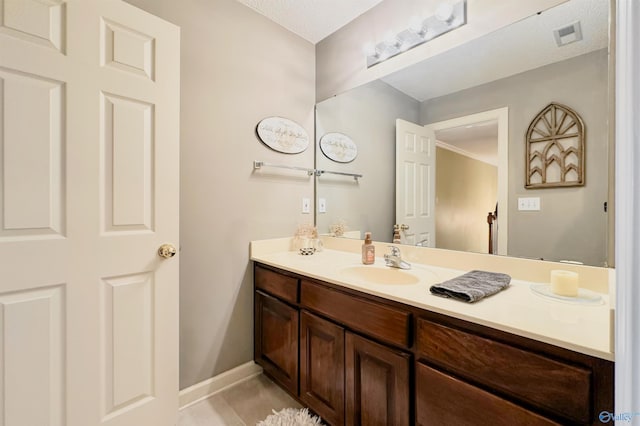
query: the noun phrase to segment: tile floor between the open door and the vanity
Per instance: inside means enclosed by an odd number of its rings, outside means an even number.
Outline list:
[[[301,408],[261,374],[181,410],[177,426],[254,426],[271,410],[287,407]]]

